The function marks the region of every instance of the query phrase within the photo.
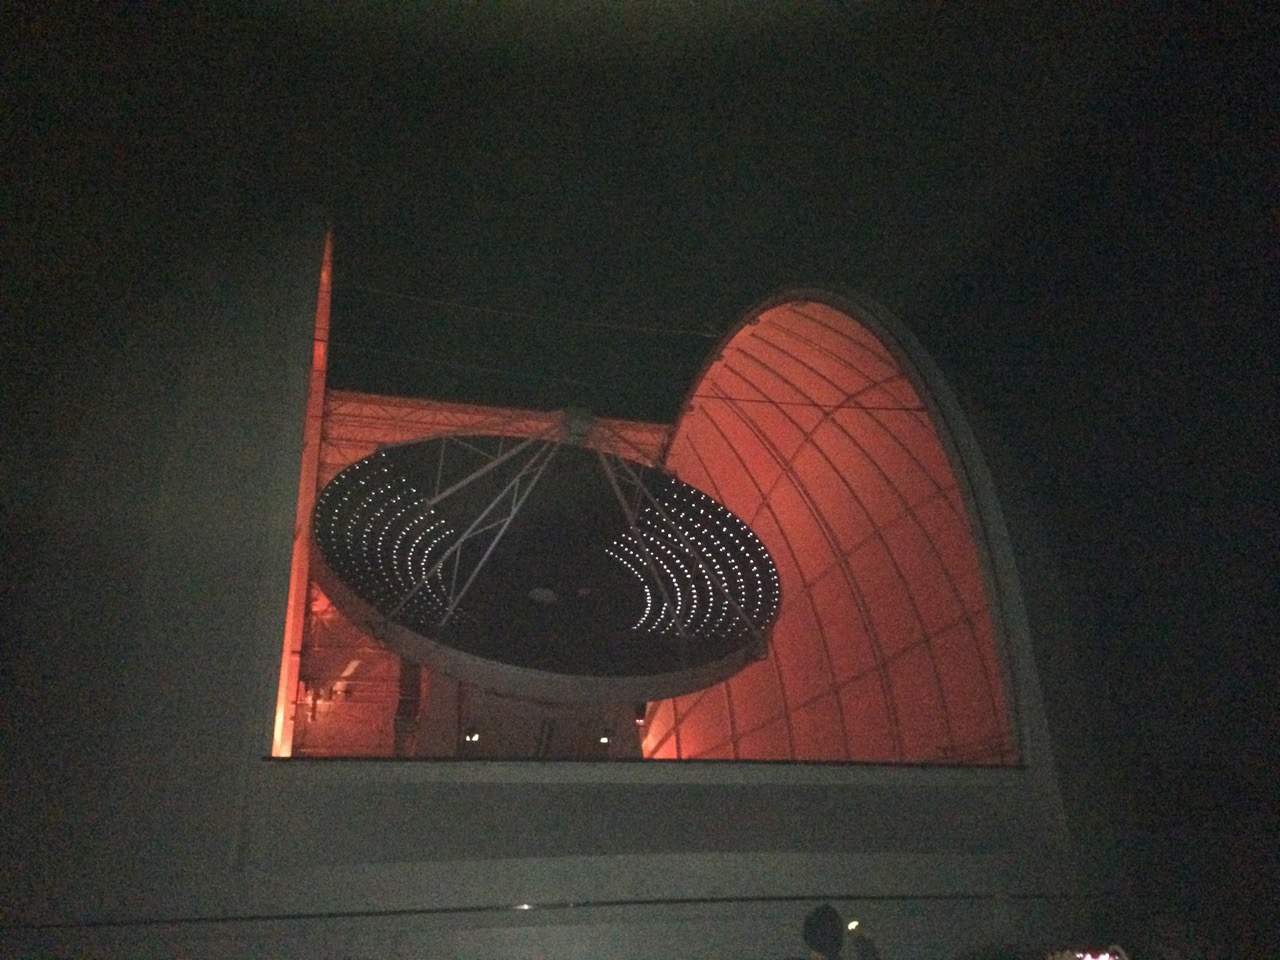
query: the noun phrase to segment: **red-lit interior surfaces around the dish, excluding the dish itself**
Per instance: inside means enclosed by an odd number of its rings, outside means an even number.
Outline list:
[[[876,311],[778,301],[724,342],[675,428],[594,420],[576,438],[664,466],[745,521],[781,607],[764,659],[639,717],[634,701],[589,710],[581,742],[548,748],[538,731],[573,723],[410,663],[337,609],[306,531],[317,492],[385,444],[556,438],[564,415],[326,390],[329,270],[326,251],[274,755],[1016,762],[956,436]],[[635,718],[628,739],[600,735]]]

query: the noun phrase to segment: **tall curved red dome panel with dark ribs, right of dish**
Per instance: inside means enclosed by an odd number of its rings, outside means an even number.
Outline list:
[[[1011,763],[965,500],[904,365],[852,311],[750,317],[667,467],[742,517],[782,581],[767,659],[654,704],[653,758]]]

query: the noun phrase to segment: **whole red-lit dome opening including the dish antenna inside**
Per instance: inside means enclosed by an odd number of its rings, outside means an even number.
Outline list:
[[[275,756],[1018,762],[992,495],[882,311],[760,306],[660,425],[326,390],[330,294]]]

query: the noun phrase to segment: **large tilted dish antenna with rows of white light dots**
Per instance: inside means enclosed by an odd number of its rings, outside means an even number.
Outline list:
[[[380,449],[316,499],[316,580],[402,655],[495,692],[657,700],[762,658],[778,575],[700,490],[545,439]]]

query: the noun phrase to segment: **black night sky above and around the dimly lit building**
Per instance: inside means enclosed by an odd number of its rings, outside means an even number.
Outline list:
[[[632,6],[8,6],[17,579],[40,529],[18,465],[65,456],[102,383],[163,380],[147,344],[175,332],[145,305],[233,284],[220,251],[255,230],[335,224],[334,385],[639,419],[669,420],[763,297],[865,291],[1043,509],[1119,718],[1142,910],[1262,925],[1274,18]]]

